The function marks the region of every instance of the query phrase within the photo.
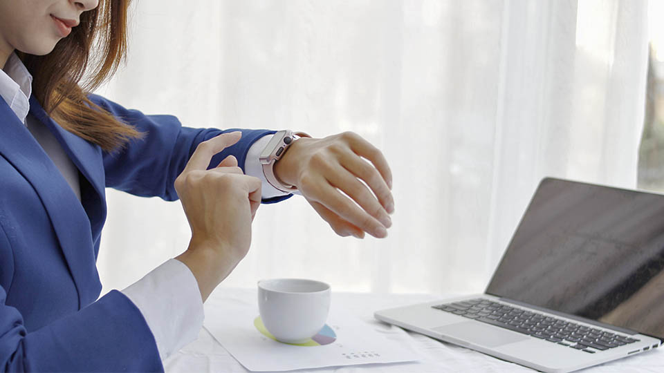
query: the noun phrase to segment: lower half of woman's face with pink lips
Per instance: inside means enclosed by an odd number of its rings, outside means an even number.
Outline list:
[[[98,0],[0,0],[0,62],[13,50],[46,55]],[[3,58],[4,57],[4,58]],[[2,67],[2,66],[0,66]]]

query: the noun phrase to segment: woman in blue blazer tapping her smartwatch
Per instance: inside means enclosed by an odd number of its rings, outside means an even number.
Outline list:
[[[202,303],[246,255],[260,202],[289,191],[341,236],[381,238],[391,225],[389,167],[358,135],[279,131],[275,146],[275,131],[185,128],[91,95],[124,57],[127,2],[0,0],[4,370],[163,370],[160,358],[196,338]],[[261,164],[265,152],[281,158]],[[192,238],[97,299],[105,187],[179,198]]]

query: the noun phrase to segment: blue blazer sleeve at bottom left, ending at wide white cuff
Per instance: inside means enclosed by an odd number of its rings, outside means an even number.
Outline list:
[[[163,372],[147,323],[119,291],[30,333],[5,301],[0,287],[3,372]]]

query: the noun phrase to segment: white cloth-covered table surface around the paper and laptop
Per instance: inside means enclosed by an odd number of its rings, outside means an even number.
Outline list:
[[[212,296],[256,299],[255,289],[216,289]],[[447,296],[414,294],[349,294],[335,293],[332,303],[342,306],[367,323],[379,323],[374,311],[398,307],[409,303],[427,302]],[[207,314],[205,317],[214,317]],[[396,327],[392,327],[396,328]],[[395,329],[394,332],[400,332]],[[297,370],[297,372],[534,372],[533,370],[501,361],[497,358],[436,341],[433,338],[412,332],[403,333],[405,341],[421,353],[416,363],[391,365],[354,365],[349,367]],[[164,361],[166,372],[248,372],[212,337],[205,328],[199,338]],[[582,370],[584,373],[664,372],[664,348],[653,350],[611,363]]]

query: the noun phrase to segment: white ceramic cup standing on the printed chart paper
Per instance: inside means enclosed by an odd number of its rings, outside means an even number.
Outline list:
[[[305,343],[325,325],[330,285],[302,278],[258,282],[258,309],[263,325],[278,341]]]

